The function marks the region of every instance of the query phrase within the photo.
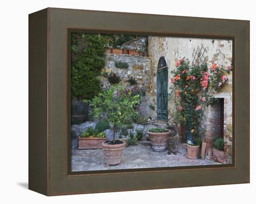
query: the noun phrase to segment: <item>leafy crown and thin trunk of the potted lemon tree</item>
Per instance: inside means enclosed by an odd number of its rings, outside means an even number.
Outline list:
[[[116,129],[138,115],[135,107],[140,103],[140,96],[131,96],[131,91],[126,92],[124,86],[115,85],[99,93],[89,103],[94,108],[91,113],[96,118],[101,118],[101,114],[104,113],[108,122],[113,124],[113,140],[115,140]]]

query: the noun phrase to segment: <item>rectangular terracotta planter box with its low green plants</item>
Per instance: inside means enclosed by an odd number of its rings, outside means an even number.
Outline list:
[[[78,149],[99,149],[101,143],[107,140],[107,134],[88,127],[85,133],[82,133],[78,138]]]

